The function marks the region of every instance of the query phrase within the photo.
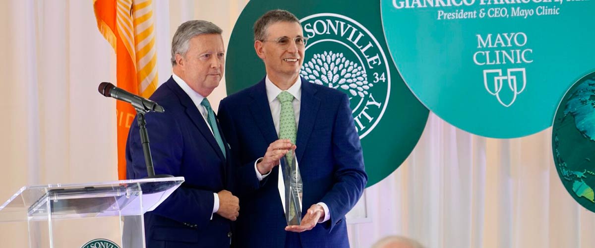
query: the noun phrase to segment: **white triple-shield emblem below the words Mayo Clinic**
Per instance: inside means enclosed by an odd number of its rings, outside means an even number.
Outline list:
[[[484,86],[486,86],[488,93],[496,96],[502,106],[509,107],[515,102],[516,96],[525,90],[527,74],[525,68],[511,68],[506,71],[507,74],[502,75],[501,69],[484,70]],[[511,90],[512,92],[512,99],[508,103],[503,102],[502,98],[500,98],[503,85],[508,86],[504,90]]]

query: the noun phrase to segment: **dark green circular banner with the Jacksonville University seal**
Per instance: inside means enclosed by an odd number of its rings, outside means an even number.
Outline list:
[[[292,12],[308,37],[301,76],[345,92],[364,149],[368,186],[387,177],[417,144],[428,118],[389,56],[377,2],[252,0],[231,33],[227,93],[265,76],[254,51],[253,24],[274,9]]]

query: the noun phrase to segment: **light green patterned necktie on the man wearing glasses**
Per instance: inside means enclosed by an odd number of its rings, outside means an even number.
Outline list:
[[[293,95],[282,91],[277,96],[281,102],[281,114],[279,115],[279,139],[289,139],[292,144],[296,143],[296,117],[293,112]],[[287,162],[291,163],[292,154],[286,154]]]

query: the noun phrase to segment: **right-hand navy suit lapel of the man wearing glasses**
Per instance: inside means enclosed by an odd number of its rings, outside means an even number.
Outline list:
[[[302,159],[303,151],[306,144],[308,144],[310,134],[312,134],[314,123],[316,123],[318,109],[320,108],[320,99],[315,96],[316,91],[309,81],[302,78],[302,99],[296,136],[297,161]]]

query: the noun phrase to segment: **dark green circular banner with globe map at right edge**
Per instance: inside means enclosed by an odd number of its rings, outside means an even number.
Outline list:
[[[556,170],[568,193],[595,212],[595,73],[578,80],[560,102],[552,149]]]

